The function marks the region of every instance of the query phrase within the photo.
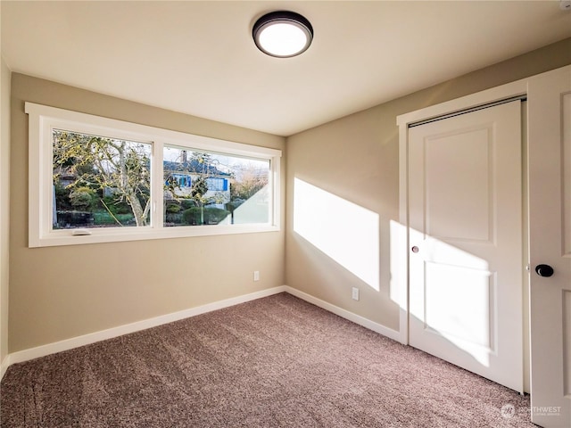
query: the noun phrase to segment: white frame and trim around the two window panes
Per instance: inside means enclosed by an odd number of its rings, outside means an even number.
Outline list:
[[[235,143],[207,136],[194,136],[163,128],[108,119],[41,105],[25,103],[29,115],[29,247],[112,243],[147,239],[207,235],[234,235],[280,230],[280,160],[282,152],[269,147]],[[125,139],[151,144],[151,225],[57,229],[53,218],[53,130]],[[163,148],[165,145],[189,151],[218,152],[260,160],[270,165],[269,222],[246,225],[163,226]],[[87,234],[87,235],[79,235]]]

